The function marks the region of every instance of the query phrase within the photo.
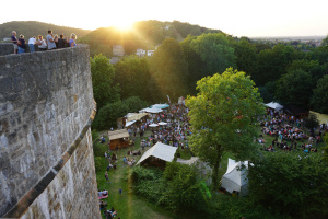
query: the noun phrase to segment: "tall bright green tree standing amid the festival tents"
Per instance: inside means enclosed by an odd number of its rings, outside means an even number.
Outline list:
[[[263,104],[255,83],[245,72],[226,69],[197,82],[197,96],[188,96],[192,151],[213,169],[213,186],[224,152],[245,160],[256,153],[257,117]]]

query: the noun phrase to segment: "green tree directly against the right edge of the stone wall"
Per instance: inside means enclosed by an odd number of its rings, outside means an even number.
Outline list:
[[[119,101],[119,84],[114,82],[115,69],[105,56],[97,55],[90,58],[93,95],[97,103],[97,108],[102,108],[108,103]]]

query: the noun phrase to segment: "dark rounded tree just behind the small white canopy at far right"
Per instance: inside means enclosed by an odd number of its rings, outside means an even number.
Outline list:
[[[277,82],[276,97],[282,104],[308,107],[311,95],[312,78],[303,70],[293,70],[283,74]]]

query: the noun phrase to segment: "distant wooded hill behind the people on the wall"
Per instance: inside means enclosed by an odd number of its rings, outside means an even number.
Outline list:
[[[12,31],[17,32],[17,35],[23,34],[25,38],[28,39],[30,37],[37,35],[46,36],[48,34],[48,30],[51,30],[54,34],[63,34],[68,37],[72,33],[77,34],[78,37],[82,37],[91,32],[87,30],[58,26],[38,21],[12,21],[0,24],[0,41],[3,38],[10,38]]]

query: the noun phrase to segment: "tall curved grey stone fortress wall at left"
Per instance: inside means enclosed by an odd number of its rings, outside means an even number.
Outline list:
[[[0,45],[0,218],[101,218],[86,45],[7,55]],[[7,56],[3,56],[7,55]]]

